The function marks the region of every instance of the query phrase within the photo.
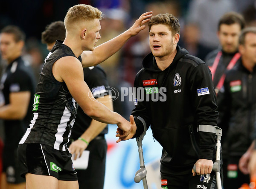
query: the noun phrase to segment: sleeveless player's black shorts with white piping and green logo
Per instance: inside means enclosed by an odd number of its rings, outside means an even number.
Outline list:
[[[68,150],[61,152],[44,144],[19,144],[20,175],[26,173],[53,176],[61,181],[77,181],[77,173]]]

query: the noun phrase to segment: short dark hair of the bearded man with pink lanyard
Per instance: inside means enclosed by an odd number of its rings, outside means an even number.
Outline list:
[[[241,30],[244,29],[244,26],[245,26],[244,17],[237,12],[233,12],[233,11],[228,12],[222,15],[222,17],[220,18],[218,22],[218,31],[220,30],[221,24],[231,25],[236,23],[240,25]]]

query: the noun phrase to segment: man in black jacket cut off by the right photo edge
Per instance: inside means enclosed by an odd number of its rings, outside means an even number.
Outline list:
[[[234,189],[249,183],[249,176],[238,169],[239,158],[252,143],[256,115],[256,28],[245,28],[239,37],[241,60],[227,72],[218,94],[218,124],[227,130],[223,156],[227,160],[224,186]],[[227,125],[223,124],[228,123]],[[224,128],[226,127],[226,128]],[[224,166],[224,164],[223,164]]]

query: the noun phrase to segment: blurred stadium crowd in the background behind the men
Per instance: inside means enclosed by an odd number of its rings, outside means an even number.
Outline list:
[[[180,41],[189,54],[205,60],[206,55],[218,48],[218,20],[227,12],[244,16],[246,26],[256,26],[256,1],[254,0],[28,0],[0,1],[0,30],[6,25],[17,25],[26,34],[23,58],[30,62],[36,79],[48,54],[41,43],[41,32],[53,21],[64,20],[73,5],[90,4],[104,14],[101,20],[100,45],[125,31],[145,11],[153,15],[169,12],[179,19]],[[150,53],[148,29],[132,37],[125,46],[101,64],[107,73],[109,85],[121,92],[121,87],[133,87],[134,78],[142,68],[142,60]],[[0,55],[1,56],[1,55]],[[6,62],[0,58],[0,76]],[[114,111],[128,119],[134,102],[116,99]],[[0,127],[0,138],[3,136]]]

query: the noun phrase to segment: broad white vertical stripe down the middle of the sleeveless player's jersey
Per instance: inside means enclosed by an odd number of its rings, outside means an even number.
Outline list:
[[[63,116],[61,116],[61,122],[58,125],[57,133],[55,134],[56,141],[54,143],[54,149],[60,150],[60,144],[63,142],[63,135],[66,131],[67,122],[70,121],[71,113],[67,110],[67,106],[65,106],[65,110],[63,111]],[[71,133],[71,132],[70,132]],[[62,147],[62,151],[66,151],[65,145]]]

